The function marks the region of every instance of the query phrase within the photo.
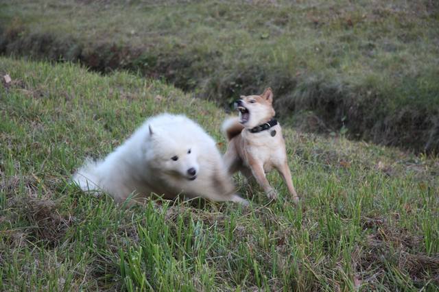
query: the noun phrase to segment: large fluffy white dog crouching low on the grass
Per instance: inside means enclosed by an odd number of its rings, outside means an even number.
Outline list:
[[[182,115],[147,119],[104,160],[87,160],[73,175],[84,191],[109,193],[115,202],[151,193],[174,199],[180,193],[247,204],[235,194],[213,138]]]

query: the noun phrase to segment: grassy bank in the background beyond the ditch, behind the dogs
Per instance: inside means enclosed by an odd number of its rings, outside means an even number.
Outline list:
[[[314,110],[353,137],[439,149],[434,1],[154,2],[3,1],[0,48],[139,70],[222,103],[272,86],[285,118]]]

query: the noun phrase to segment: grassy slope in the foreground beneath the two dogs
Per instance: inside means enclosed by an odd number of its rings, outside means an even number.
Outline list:
[[[224,151],[224,113],[128,73],[0,58],[0,290],[439,289],[439,161],[285,127],[294,184],[252,206],[154,202],[122,210],[68,184],[85,156],[143,119],[183,112]],[[253,191],[251,191],[253,190]],[[434,219],[436,218],[436,219]]]

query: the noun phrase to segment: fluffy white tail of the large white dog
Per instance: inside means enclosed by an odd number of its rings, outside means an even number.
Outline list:
[[[94,162],[91,158],[87,158],[84,165],[73,174],[73,182],[78,184],[82,191],[99,195],[101,188],[99,187],[99,175],[97,166],[99,162]]]

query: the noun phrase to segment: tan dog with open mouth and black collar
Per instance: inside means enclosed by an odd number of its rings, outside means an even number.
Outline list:
[[[224,162],[230,174],[241,171],[247,179],[253,176],[270,199],[276,199],[277,195],[265,178],[265,172],[276,169],[297,202],[285,141],[281,125],[274,119],[272,101],[272,89],[267,88],[262,95],[241,96],[236,102],[239,117],[226,119],[223,123],[223,130],[230,141]]]

